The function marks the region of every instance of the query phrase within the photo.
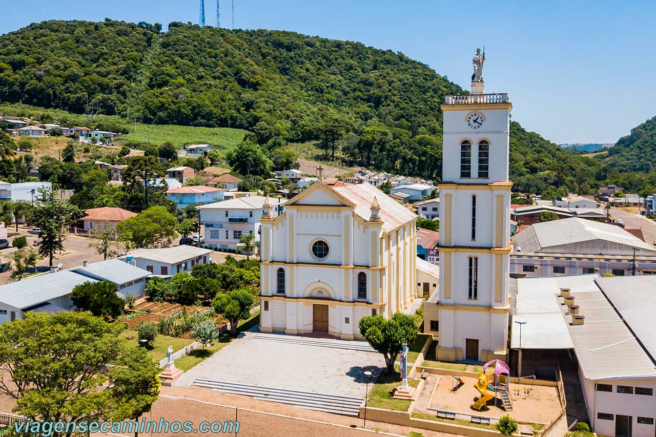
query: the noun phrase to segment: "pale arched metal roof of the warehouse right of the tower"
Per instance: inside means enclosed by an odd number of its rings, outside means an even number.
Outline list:
[[[636,247],[642,254],[656,255],[653,247],[619,226],[576,217],[532,224],[513,236],[513,242],[522,253],[630,255]]]

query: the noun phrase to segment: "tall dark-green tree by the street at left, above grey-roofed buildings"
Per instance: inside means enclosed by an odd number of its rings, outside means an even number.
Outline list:
[[[39,189],[35,204],[30,209],[30,221],[41,228],[39,241],[35,245],[39,247],[39,255],[48,257],[50,266],[54,253],[64,249],[66,239],[66,234],[62,232],[64,226],[79,215],[81,212],[76,206],[56,198],[49,188]]]

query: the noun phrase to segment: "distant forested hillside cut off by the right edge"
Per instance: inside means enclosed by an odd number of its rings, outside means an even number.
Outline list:
[[[656,117],[631,129],[608,151],[607,163],[617,171],[656,169]]]

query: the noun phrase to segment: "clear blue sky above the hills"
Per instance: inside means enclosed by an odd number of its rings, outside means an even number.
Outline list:
[[[205,0],[215,24],[215,0]],[[230,26],[230,1],[220,0]],[[49,19],[198,22],[199,1],[8,2],[0,33]],[[487,92],[554,142],[615,142],[656,115],[656,2],[235,0],[235,27],[291,30],[401,51],[462,87],[485,45]]]

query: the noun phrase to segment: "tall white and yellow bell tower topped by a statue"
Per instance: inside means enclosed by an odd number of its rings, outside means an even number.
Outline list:
[[[512,104],[508,94],[484,93],[484,60],[474,56],[472,93],[441,105],[437,356],[445,361],[505,360],[508,352]]]

